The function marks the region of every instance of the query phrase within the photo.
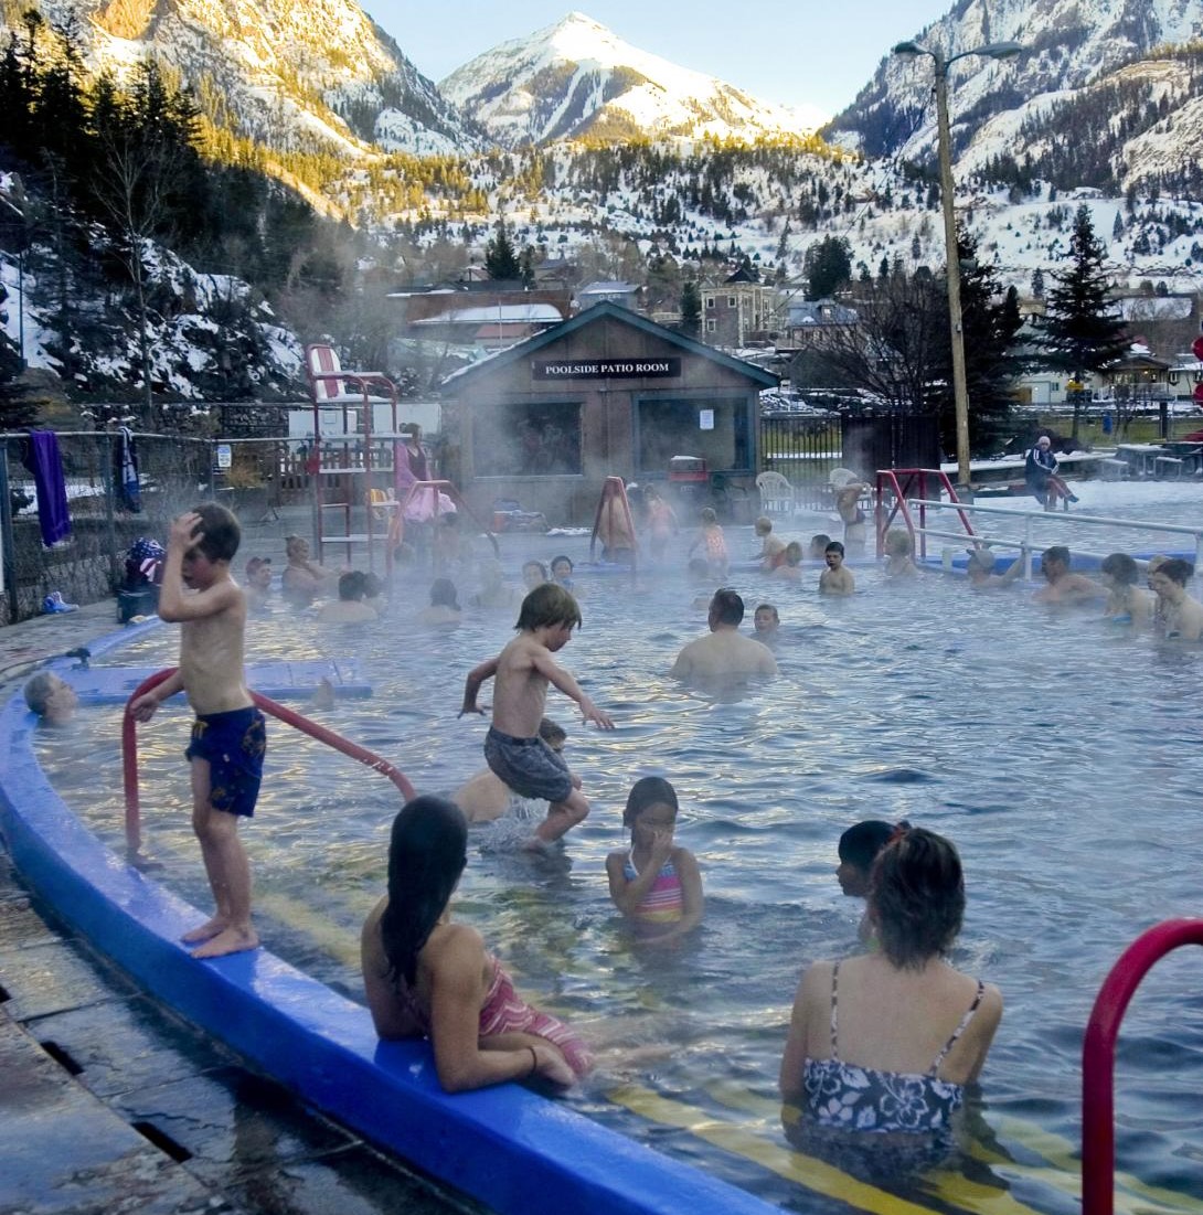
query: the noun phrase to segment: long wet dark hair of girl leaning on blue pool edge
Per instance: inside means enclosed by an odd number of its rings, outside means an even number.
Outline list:
[[[430,938],[468,863],[468,821],[454,802],[416,797],[397,812],[389,838],[389,905],[380,940],[389,978],[413,985]]]

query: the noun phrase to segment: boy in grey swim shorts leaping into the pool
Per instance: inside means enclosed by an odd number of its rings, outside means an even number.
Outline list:
[[[581,781],[564,759],[538,734],[547,703],[547,685],[554,684],[581,706],[586,722],[612,730],[614,722],[581,690],[580,684],[552,657],[564,649],[581,623],[581,609],[572,595],[554,582],[536,587],[523,600],[515,637],[495,659],[468,673],[464,713],[484,713],[476,694],[486,679],[495,679],[493,722],[485,736],[485,761],[514,792],[550,802],[547,819],[535,837],[543,843],[559,840],[589,813]]]

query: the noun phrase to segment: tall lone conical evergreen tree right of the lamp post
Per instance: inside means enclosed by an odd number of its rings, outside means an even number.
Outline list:
[[[1090,208],[1083,203],[1073,221],[1069,266],[1052,276],[1047,311],[1040,321],[1041,361],[1075,380],[1101,371],[1128,349],[1124,322],[1107,292],[1107,247],[1095,234]],[[1081,401],[1074,397],[1073,436],[1078,436]]]

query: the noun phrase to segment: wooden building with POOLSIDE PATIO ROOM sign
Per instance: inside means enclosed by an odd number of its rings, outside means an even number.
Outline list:
[[[775,375],[612,303],[444,382],[444,468],[473,509],[498,501],[588,525],[606,476],[665,485],[673,456],[751,488],[759,392]]]

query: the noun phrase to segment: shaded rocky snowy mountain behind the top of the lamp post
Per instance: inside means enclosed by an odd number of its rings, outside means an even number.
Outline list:
[[[1175,94],[1186,101],[1192,68],[1174,67],[1162,56],[1186,51],[1191,44],[1199,51],[1201,39],[1198,0],[960,0],[916,41],[945,58],[989,43],[1016,41],[1024,47],[1011,60],[965,55],[949,67],[958,153],[977,142],[990,145],[994,153],[1021,156],[1028,151],[1028,137],[1050,118],[1064,137],[1064,107],[1123,74],[1133,85],[1147,80],[1154,106]],[[1122,115],[1112,117],[1118,126]],[[829,134],[869,157],[926,156],[936,142],[932,60],[887,55]],[[1078,130],[1075,137],[1081,134]],[[1194,143],[1190,151],[1193,160],[1198,147]],[[987,156],[972,159],[979,164]]]

